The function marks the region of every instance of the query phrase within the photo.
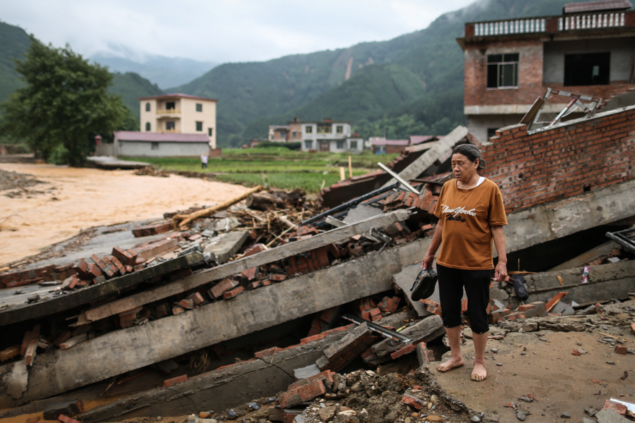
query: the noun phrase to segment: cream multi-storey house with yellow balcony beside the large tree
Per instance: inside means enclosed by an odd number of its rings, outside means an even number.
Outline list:
[[[141,97],[142,133],[181,133],[206,135],[210,148],[216,148],[217,100],[187,94]]]

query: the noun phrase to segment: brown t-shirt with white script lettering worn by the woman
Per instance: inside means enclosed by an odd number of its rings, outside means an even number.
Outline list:
[[[507,225],[498,186],[489,179],[471,190],[444,183],[435,208],[442,225],[437,263],[454,269],[494,269],[490,226]]]

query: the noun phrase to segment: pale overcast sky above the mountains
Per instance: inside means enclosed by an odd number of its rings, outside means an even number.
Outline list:
[[[84,56],[219,63],[383,41],[473,0],[0,0],[0,20]]]

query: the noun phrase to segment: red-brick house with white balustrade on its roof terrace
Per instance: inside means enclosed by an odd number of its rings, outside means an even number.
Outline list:
[[[548,87],[601,99],[634,90],[631,7],[627,0],[591,1],[567,4],[561,16],[466,23],[457,41],[465,53],[470,133],[484,142],[519,123]],[[555,96],[543,116],[570,101]]]

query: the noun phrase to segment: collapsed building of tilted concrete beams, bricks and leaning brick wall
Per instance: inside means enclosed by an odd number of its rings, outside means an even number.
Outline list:
[[[555,312],[557,303],[586,307],[627,298],[635,278],[632,252],[604,233],[632,225],[633,114],[635,106],[627,106],[531,131],[513,125],[485,144],[459,127],[428,148],[404,152],[416,159],[398,175],[388,168],[332,187],[346,192],[342,204],[322,214],[311,212],[299,194],[256,188],[246,200],[252,208],[200,217],[189,230],[174,231],[174,224],[200,211],[135,228],[150,238],[132,249],[5,272],[4,300],[18,287],[37,288],[0,310],[8,333],[1,345],[7,362],[0,367],[2,407],[41,410],[67,391],[210,347],[221,359],[246,345],[272,345],[250,359],[205,366],[196,377],[97,407],[83,420],[179,409],[193,398],[218,410],[286,391],[296,379],[339,372],[358,357],[376,366],[418,350],[424,362],[434,360],[425,345],[444,333],[440,310],[434,295],[411,304],[409,285],[434,230],[431,214],[449,178],[449,154],[462,142],[483,149],[486,175],[500,185],[509,270],[525,274],[534,302],[519,307],[513,283],[494,284],[492,323],[531,317],[532,308]],[[430,168],[437,175],[426,176]],[[391,174],[404,183],[393,183]],[[376,185],[385,187],[370,191]],[[294,204],[294,212],[277,212],[283,204]],[[158,258],[162,254],[174,257]],[[585,268],[594,260],[606,264]],[[560,278],[545,273],[550,269]],[[560,312],[570,306],[564,308]],[[294,322],[302,319],[310,322],[305,338],[276,346],[273,333],[297,329]],[[375,322],[380,326],[368,329]],[[400,338],[394,329],[402,326],[406,336]]]

